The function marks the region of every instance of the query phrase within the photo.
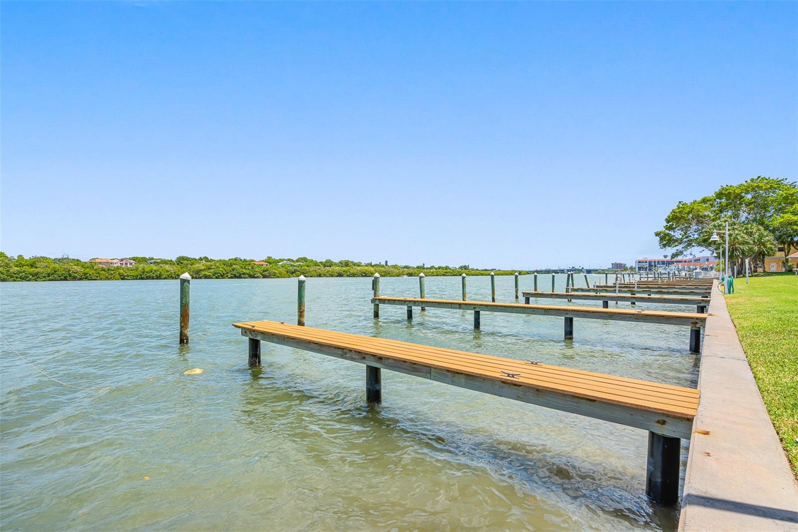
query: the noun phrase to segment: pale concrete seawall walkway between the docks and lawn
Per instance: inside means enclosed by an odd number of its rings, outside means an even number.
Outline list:
[[[698,388],[679,530],[798,530],[798,487],[717,285]]]

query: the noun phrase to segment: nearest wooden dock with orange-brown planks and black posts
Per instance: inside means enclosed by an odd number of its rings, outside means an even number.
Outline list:
[[[647,430],[646,494],[663,504],[678,500],[680,439],[692,433],[695,389],[275,321],[233,326],[249,339],[251,366],[261,363],[261,341],[365,364],[373,403],[381,402],[387,369]]]

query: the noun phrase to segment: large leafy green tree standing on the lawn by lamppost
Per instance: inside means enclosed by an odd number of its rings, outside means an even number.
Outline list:
[[[753,177],[740,185],[725,185],[712,196],[680,201],[654,234],[663,249],[680,256],[690,249],[716,252],[725,247],[729,222],[729,264],[741,270],[745,259],[763,262],[784,248],[784,270],[790,249],[798,248],[798,186],[784,178]],[[713,233],[721,237],[711,242]]]

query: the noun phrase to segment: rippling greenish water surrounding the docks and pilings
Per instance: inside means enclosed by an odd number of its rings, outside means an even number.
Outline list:
[[[309,279],[307,324],[697,381],[686,328],[577,319],[566,342],[561,318],[483,312],[475,332],[470,312],[416,309],[409,324],[405,308],[383,306],[376,322],[370,283]],[[469,299],[487,300],[489,283],[470,277]],[[512,286],[497,277],[497,300],[512,300]],[[414,278],[381,280],[383,295],[417,290]],[[427,277],[426,290],[459,299],[460,278]],[[267,343],[262,369],[247,368],[231,323],[295,323],[295,279],[192,281],[188,347],[177,344],[176,280],[4,283],[0,296],[2,335],[17,351],[65,383],[100,388],[65,387],[0,347],[3,530],[677,526],[677,510],[643,494],[646,431],[389,371],[383,404],[368,408],[360,364]],[[183,375],[193,367],[204,373]]]

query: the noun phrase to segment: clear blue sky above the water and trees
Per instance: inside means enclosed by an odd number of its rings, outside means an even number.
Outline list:
[[[9,254],[660,256],[798,173],[798,3],[2,2]]]

